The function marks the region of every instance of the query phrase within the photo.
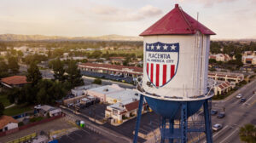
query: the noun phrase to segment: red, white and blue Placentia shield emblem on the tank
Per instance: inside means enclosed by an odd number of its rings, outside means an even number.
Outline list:
[[[177,73],[179,43],[146,43],[148,79],[156,88],[169,83]]]

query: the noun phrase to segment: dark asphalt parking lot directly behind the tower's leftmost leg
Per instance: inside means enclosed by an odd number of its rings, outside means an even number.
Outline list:
[[[131,139],[133,139],[134,134],[132,132],[135,130],[135,125],[136,125],[136,117],[122,123],[119,126],[113,126],[109,123],[105,123],[103,126],[112,129],[113,131],[119,132],[119,134],[123,134]],[[140,124],[140,129],[139,132],[142,134],[148,134],[152,132],[154,129],[158,129],[159,127],[159,116],[155,114],[154,112],[148,112],[146,114],[142,115],[141,118],[141,124]],[[142,138],[139,138],[139,142],[143,142]]]

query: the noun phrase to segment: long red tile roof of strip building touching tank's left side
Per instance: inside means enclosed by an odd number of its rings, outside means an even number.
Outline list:
[[[110,64],[95,64],[95,63],[82,63],[79,66],[91,66],[97,68],[110,68],[115,70],[122,70],[124,68],[132,69],[134,72],[143,72],[143,68],[136,66],[119,66],[119,65],[110,65]]]

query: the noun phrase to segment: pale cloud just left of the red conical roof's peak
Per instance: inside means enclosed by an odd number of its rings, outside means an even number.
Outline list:
[[[162,14],[162,10],[146,5],[140,9],[117,9],[109,6],[97,6],[91,11],[98,16],[101,20],[110,21],[136,21],[144,20],[148,16],[156,16]]]

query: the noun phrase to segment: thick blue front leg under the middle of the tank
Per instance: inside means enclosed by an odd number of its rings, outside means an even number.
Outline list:
[[[182,103],[182,109],[181,109],[181,132],[182,132],[182,143],[186,143],[188,138],[187,138],[187,133],[188,133],[188,106],[187,102]]]

